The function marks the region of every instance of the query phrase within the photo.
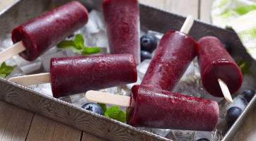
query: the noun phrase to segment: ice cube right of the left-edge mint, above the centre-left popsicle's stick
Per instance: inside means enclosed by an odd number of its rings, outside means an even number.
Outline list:
[[[21,56],[15,55],[13,56],[13,60],[21,68],[21,71],[23,71],[23,73],[32,73],[35,71],[39,71],[42,66],[42,61],[40,57],[35,59],[35,61],[25,61],[25,59],[21,58]]]

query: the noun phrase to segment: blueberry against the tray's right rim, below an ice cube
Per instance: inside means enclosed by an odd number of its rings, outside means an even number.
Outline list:
[[[242,109],[238,108],[237,106],[233,106],[228,109],[228,113],[226,114],[226,123],[228,128],[231,128],[240,114],[242,114]]]

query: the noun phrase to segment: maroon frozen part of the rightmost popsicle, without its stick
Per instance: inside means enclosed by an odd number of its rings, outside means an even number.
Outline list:
[[[215,97],[223,97],[220,79],[226,83],[229,92],[235,94],[242,85],[243,75],[221,41],[208,36],[199,39],[198,44],[198,63],[206,92]]]

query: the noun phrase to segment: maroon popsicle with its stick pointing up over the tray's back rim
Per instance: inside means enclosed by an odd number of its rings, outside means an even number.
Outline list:
[[[163,35],[141,85],[172,91],[178,84],[198,51],[197,42],[184,33],[189,32],[192,26],[190,23],[190,27],[184,30],[187,21],[193,23],[194,20],[192,16],[188,16],[182,32],[170,31]]]

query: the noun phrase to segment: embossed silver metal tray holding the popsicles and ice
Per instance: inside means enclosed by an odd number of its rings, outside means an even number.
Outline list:
[[[14,27],[68,2],[69,0],[15,1],[0,12],[0,41]],[[102,11],[101,4],[103,0],[79,0],[79,2],[86,6],[88,11],[91,9]],[[184,16],[144,4],[139,5],[139,11],[141,27],[146,30],[154,30],[162,33],[170,30],[180,30],[180,27],[182,27],[185,21]],[[209,35],[218,37],[221,42],[231,45],[233,48],[232,55],[239,55],[244,60],[254,61],[246,52],[238,36],[231,30],[225,30],[200,20],[195,20],[189,35],[196,41],[201,37]],[[165,137],[134,128],[119,121],[106,118],[105,116],[94,114],[91,111],[83,110],[78,106],[63,102],[54,97],[49,97],[46,94],[36,92],[28,87],[17,85],[1,78],[0,99],[37,114],[42,114],[55,121],[71,125],[87,133],[103,137],[106,140],[168,140]],[[238,120],[228,130],[223,140],[227,141],[233,138],[240,125],[245,121],[248,112],[255,106],[255,101],[256,96],[253,97]],[[171,139],[176,140],[174,135]]]

